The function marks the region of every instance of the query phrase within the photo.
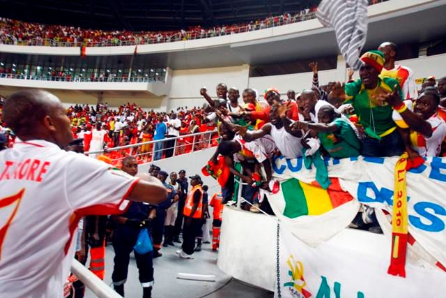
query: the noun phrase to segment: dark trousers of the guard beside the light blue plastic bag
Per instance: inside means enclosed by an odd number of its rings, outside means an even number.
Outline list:
[[[130,253],[136,244],[140,229],[119,225],[114,231],[114,269],[112,281],[114,285],[123,285],[127,281]],[[143,288],[153,286],[153,251],[140,255],[134,252],[139,270],[139,282]]]

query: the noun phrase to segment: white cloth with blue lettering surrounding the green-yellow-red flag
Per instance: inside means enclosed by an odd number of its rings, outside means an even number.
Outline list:
[[[341,160],[330,159],[327,161],[328,176],[339,178],[341,188],[353,196],[355,201],[392,213],[394,165],[397,160],[397,157],[363,158],[362,156]],[[302,164],[302,159],[286,160],[283,157],[277,158],[273,163],[273,170],[275,179],[282,181],[282,185],[284,181],[293,178],[310,184],[314,182],[316,177],[316,169],[307,170]],[[415,238],[422,251],[429,252],[433,259],[443,265],[446,264],[445,193],[446,158],[427,158],[424,165],[408,172],[409,233]],[[339,221],[342,221],[341,224],[335,225],[335,229],[327,231],[323,229],[323,225],[309,225],[316,216],[286,218],[282,206],[285,204],[284,200],[279,198],[277,194],[268,195],[268,200],[275,214],[284,219],[284,223],[287,224],[291,233],[307,244],[318,244],[321,239],[329,239],[340,232],[345,228],[346,219],[353,218],[357,211],[357,207],[353,205],[354,203],[347,203],[328,211],[326,214],[317,216],[319,217],[318,222],[323,223],[324,218],[328,221],[335,220],[333,216],[330,216],[334,212],[342,214],[341,219],[339,219]],[[344,208],[341,209],[341,207]],[[339,210],[337,211],[337,209]],[[383,225],[383,216],[380,216],[380,223]],[[334,225],[330,226],[334,227]],[[306,232],[300,231],[299,228],[305,228]],[[386,231],[386,227],[383,226],[383,230]],[[388,237],[390,239],[390,234],[388,234]],[[385,255],[387,260],[385,266],[388,266],[390,244],[385,249],[388,252]],[[382,269],[380,274],[385,274],[385,272],[387,272],[387,268]]]

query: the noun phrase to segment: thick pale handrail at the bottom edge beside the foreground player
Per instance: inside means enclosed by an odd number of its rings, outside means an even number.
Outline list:
[[[71,272],[99,298],[122,298],[117,292],[101,281],[93,272],[86,269],[78,260],[72,260]]]

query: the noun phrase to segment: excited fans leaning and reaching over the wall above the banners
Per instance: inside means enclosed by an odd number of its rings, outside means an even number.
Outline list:
[[[206,172],[220,182],[224,201],[238,197],[236,177],[246,184],[245,208],[259,212],[268,204],[263,194],[275,187],[275,156],[318,161],[321,156],[385,157],[406,151],[414,167],[426,156],[446,156],[446,77],[438,82],[428,77],[417,90],[412,70],[395,64],[397,45],[383,43],[378,48],[362,55],[360,78],[353,80],[349,70],[346,83],[320,85],[317,64],[310,64],[313,82],[298,94],[289,90],[286,99],[275,88],[267,89],[263,98],[247,88],[241,93],[243,103],[238,90],[228,91],[224,84],[217,86],[216,99],[201,89],[215,110],[221,137]],[[325,178],[316,175],[321,186],[328,182]],[[380,232],[376,218],[363,214],[368,217],[352,226]]]

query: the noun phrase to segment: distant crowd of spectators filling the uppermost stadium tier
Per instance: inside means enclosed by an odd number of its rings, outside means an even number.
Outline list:
[[[314,18],[316,6],[297,13],[284,13],[245,24],[211,28],[190,27],[179,31],[102,31],[61,25],[35,24],[0,18],[0,43],[14,45],[118,46],[169,43],[180,40],[224,36],[291,24]]]

